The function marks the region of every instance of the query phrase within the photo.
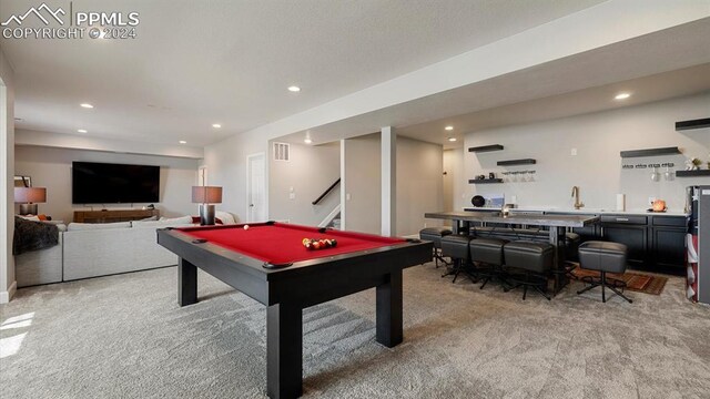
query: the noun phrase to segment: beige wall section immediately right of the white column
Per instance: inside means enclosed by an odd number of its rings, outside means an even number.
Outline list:
[[[438,144],[397,137],[397,235],[416,235],[424,213],[444,208],[443,150]]]

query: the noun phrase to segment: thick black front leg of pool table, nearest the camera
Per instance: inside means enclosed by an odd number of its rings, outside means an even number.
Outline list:
[[[266,308],[266,392],[272,399],[303,392],[303,311],[294,304]]]

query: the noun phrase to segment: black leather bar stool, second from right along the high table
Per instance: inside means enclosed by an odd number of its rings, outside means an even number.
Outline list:
[[[549,243],[530,241],[511,242],[503,247],[506,266],[520,276],[513,276],[516,283],[513,288],[523,286],[523,300],[527,297],[528,287],[535,288],[547,300],[547,278],[555,259],[555,247]]]

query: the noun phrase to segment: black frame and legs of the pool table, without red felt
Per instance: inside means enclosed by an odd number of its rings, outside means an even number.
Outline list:
[[[296,398],[303,392],[304,308],[376,287],[376,339],[394,347],[403,340],[402,272],[432,260],[430,242],[407,241],[266,269],[263,260],[209,242],[193,243],[189,235],[172,228],[158,229],[158,243],[180,258],[180,306],[197,301],[197,267],[266,305],[266,386],[271,398]]]

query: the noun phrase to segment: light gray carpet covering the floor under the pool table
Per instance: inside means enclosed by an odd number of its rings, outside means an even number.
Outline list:
[[[405,272],[405,342],[393,349],[375,341],[372,289],[306,309],[305,396],[710,397],[710,308],[683,299],[680,278],[629,305],[578,297],[578,283],[521,301],[439,275]],[[0,307],[2,392],[264,397],[265,307],[202,273],[199,295],[178,307],[174,267],[20,289]]]

